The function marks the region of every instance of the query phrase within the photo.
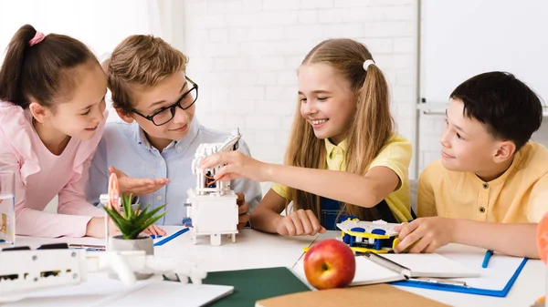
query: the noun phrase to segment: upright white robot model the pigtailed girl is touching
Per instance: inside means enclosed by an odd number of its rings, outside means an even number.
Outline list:
[[[221,236],[227,234],[236,241],[237,234],[237,195],[230,189],[230,182],[214,179],[218,165],[212,169],[199,169],[200,162],[216,153],[237,150],[241,138],[239,130],[225,143],[200,144],[192,161],[192,172],[196,176],[195,189],[188,189],[189,216],[192,220],[192,240],[196,244],[198,236],[210,236],[210,243],[221,245]]]

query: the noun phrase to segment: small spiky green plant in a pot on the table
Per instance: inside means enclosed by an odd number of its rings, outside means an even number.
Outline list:
[[[134,207],[134,208],[132,208]],[[146,230],[156,220],[160,220],[165,211],[165,204],[154,210],[149,210],[151,205],[146,206],[141,210],[141,205],[132,206],[132,194],[121,195],[121,212],[116,207],[103,207],[111,218],[114,225],[118,227],[121,234],[112,236],[109,241],[109,251],[145,251],[147,255],[154,254],[153,239],[148,235],[142,235],[142,231]],[[151,277],[153,274],[135,274],[138,280],[144,280]],[[111,274],[111,277],[116,277]]]

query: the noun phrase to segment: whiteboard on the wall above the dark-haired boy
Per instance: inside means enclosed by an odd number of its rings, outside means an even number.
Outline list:
[[[447,103],[479,73],[512,73],[548,99],[548,1],[422,0],[420,97]]]

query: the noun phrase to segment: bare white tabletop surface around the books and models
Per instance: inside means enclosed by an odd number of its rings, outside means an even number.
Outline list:
[[[174,227],[165,228],[168,232],[174,232],[176,229],[177,228]],[[190,232],[185,232],[183,235],[169,241],[163,246],[155,247],[154,253],[159,257],[182,258],[188,261],[195,261],[198,267],[205,271],[232,271],[279,266],[291,268],[303,255],[303,247],[310,246],[313,241],[333,238],[339,235],[339,232],[330,231],[316,237],[281,237],[261,233],[256,230],[242,230],[237,234],[236,243],[233,244],[230,242],[229,238],[224,237],[220,247],[212,247],[209,246],[209,240],[206,237],[199,238],[198,244],[193,245]],[[103,240],[91,238],[42,239],[28,237],[17,237],[16,241],[17,245],[28,245],[31,247],[61,241],[87,244],[100,244],[103,242]],[[469,252],[472,251],[472,249],[473,248],[452,244],[439,252],[442,254],[443,251]],[[528,261],[506,298],[494,298],[457,292],[441,292],[410,287],[399,288],[454,306],[519,307],[531,306],[532,302],[544,294],[546,289],[545,276],[546,269],[541,261]],[[48,301],[48,303],[56,302]],[[24,305],[28,306],[30,304],[25,301],[13,304],[13,306]],[[12,304],[7,306],[12,306]]]

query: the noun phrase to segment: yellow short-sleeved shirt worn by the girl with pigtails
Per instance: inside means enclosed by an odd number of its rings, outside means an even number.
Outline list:
[[[338,146],[333,145],[332,142],[325,138],[326,155],[326,169],[332,170],[346,170],[346,163],[344,161],[344,152],[347,148],[346,140],[343,140]],[[411,213],[409,209],[410,194],[409,194],[409,178],[407,171],[409,169],[409,163],[411,162],[411,143],[400,135],[395,135],[390,138],[385,147],[381,149],[381,152],[371,162],[369,169],[374,167],[386,167],[394,170],[397,177],[400,179],[400,185],[395,191],[388,194],[386,197],[386,203],[395,219],[398,221],[411,220]],[[272,189],[284,199],[288,199],[288,188],[286,186],[275,183],[272,185]]]

